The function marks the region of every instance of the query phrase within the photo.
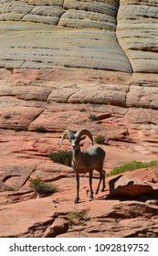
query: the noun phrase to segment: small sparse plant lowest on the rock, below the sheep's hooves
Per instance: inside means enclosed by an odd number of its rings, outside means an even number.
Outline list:
[[[68,212],[66,219],[70,225],[85,225],[88,219],[88,209],[82,209],[80,212]]]

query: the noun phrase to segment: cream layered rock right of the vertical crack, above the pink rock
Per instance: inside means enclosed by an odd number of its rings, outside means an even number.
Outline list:
[[[133,72],[158,73],[157,0],[121,0],[117,37]]]

